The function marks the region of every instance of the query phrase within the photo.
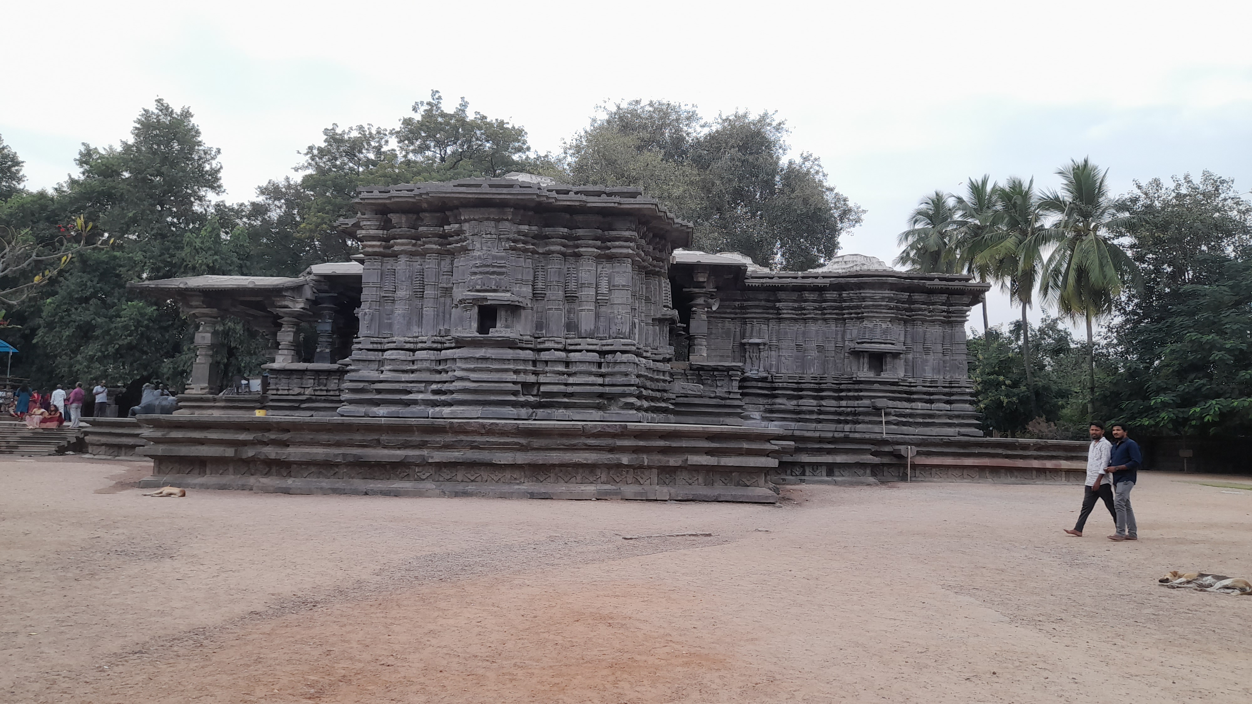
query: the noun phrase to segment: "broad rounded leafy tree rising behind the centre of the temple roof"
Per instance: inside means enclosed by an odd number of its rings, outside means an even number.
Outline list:
[[[704,122],[687,105],[601,108],[565,148],[575,184],[635,185],[695,225],[695,247],[736,251],[771,268],[809,269],[839,249],[864,210],[826,184],[813,154],[786,159],[771,113]]]

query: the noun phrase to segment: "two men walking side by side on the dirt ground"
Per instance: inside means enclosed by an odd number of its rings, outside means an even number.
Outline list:
[[[1109,428],[1113,441],[1104,437],[1104,423],[1093,422],[1088,428],[1092,443],[1087,448],[1087,484],[1083,486],[1083,510],[1078,514],[1074,527],[1065,529],[1069,535],[1082,537],[1087,516],[1096,507],[1096,501],[1103,500],[1113,516],[1113,535],[1109,540],[1138,540],[1139,530],[1134,522],[1134,509],[1131,507],[1131,490],[1138,479],[1143,456],[1139,443],[1127,436],[1126,426],[1113,423]]]

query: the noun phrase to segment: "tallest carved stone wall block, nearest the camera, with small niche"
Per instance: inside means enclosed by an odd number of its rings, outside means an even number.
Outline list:
[[[667,278],[690,228],[632,189],[363,190],[344,416],[667,420]]]

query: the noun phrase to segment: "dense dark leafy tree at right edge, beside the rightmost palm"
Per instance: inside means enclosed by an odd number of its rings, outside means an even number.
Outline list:
[[[1252,203],[1204,173],[1136,182],[1118,202],[1142,283],[1117,304],[1117,395],[1151,432],[1252,432]]]

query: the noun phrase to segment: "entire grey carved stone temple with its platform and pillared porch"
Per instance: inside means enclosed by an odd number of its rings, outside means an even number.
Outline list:
[[[197,362],[178,415],[93,428],[93,451],[138,446],[146,484],[431,496],[1080,477],[1084,443],[982,437],[969,277],[695,252],[632,188],[466,179],[356,208],[359,263],[131,284],[198,321]],[[270,339],[260,392],[222,392],[225,317]]]

